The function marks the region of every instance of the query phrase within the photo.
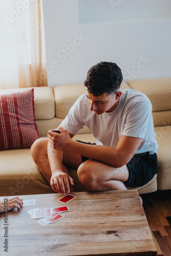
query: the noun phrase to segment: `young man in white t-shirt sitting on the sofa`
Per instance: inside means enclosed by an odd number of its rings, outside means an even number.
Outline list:
[[[121,81],[116,63],[93,66],[84,82],[86,93],[58,127],[61,134],[49,131],[48,138],[32,145],[32,157],[54,191],[73,191],[67,167],[78,168],[80,182],[90,191],[143,186],[157,173],[152,104],[138,91],[120,91]],[[72,139],[84,125],[96,144]]]

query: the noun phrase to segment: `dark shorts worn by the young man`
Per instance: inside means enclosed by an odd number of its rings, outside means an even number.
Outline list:
[[[78,140],[79,141],[79,140]],[[96,144],[87,143],[85,144]],[[82,157],[82,162],[89,160],[88,157]],[[124,182],[126,187],[140,187],[148,183],[153,179],[155,174],[157,174],[158,162],[156,154],[149,154],[149,152],[136,154],[133,158],[126,164],[129,169],[129,179]]]

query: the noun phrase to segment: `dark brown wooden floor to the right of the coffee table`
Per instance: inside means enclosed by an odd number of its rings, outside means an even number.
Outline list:
[[[142,195],[143,208],[158,256],[171,255],[171,190]]]

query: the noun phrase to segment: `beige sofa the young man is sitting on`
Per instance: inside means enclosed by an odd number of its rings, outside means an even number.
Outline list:
[[[171,78],[132,80],[128,84],[122,82],[121,89],[125,88],[141,91],[152,101],[155,132],[159,143],[158,175],[151,182],[139,187],[139,194],[151,193],[157,188],[171,189],[171,159],[169,156],[171,150]],[[35,116],[39,136],[45,137],[50,129],[57,127],[66,117],[76,99],[84,92],[83,84],[34,88]],[[6,94],[9,90],[0,90],[0,93]],[[73,139],[95,142],[94,136],[87,127],[79,131]],[[39,173],[29,148],[1,151],[0,162],[1,196],[54,193]],[[84,190],[77,177],[77,170],[71,169],[70,174],[75,181],[75,190]]]

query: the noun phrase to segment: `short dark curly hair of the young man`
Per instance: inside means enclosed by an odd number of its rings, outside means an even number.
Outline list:
[[[122,79],[121,69],[116,63],[101,61],[88,71],[84,86],[94,96],[112,94],[119,90]]]

